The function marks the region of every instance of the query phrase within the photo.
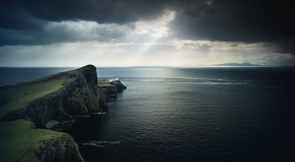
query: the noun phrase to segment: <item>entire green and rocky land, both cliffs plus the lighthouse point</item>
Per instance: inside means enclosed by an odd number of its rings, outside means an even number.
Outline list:
[[[69,134],[45,124],[102,112],[122,89],[119,80],[98,81],[93,65],[0,87],[0,161],[84,162]]]

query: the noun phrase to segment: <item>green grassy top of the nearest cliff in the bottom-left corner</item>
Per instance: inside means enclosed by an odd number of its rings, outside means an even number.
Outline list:
[[[38,162],[31,152],[44,142],[67,133],[33,129],[34,123],[25,120],[0,122],[0,162],[14,162],[28,149],[18,162]]]

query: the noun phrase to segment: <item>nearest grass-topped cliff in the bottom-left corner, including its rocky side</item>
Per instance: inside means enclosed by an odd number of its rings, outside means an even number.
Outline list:
[[[72,136],[29,121],[0,121],[0,136],[0,162],[84,162]]]

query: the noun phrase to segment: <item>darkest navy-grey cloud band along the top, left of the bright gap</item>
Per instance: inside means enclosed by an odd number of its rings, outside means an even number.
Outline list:
[[[1,0],[1,28],[25,27],[22,14],[46,21],[95,21],[125,24],[153,19],[164,12],[158,0]],[[20,17],[21,16],[21,17]],[[29,21],[29,22],[26,22]],[[20,26],[21,25],[21,26]],[[34,25],[34,24],[33,24]],[[33,26],[32,25],[32,26]],[[17,28],[19,28],[17,27]]]

